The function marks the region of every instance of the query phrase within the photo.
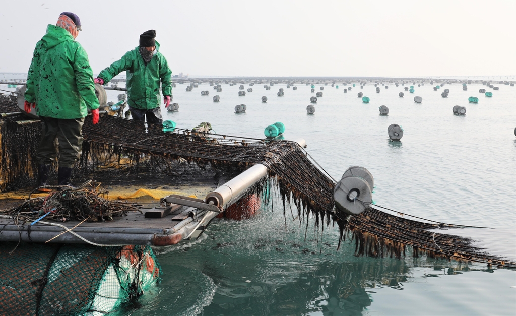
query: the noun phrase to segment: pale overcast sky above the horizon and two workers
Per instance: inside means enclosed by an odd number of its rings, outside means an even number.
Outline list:
[[[2,1],[0,72],[26,72],[59,13],[99,73],[155,29],[174,74],[516,74],[516,1]]]

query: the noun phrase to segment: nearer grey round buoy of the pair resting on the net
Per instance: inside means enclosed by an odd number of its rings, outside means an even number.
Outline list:
[[[360,214],[372,202],[372,189],[362,178],[347,177],[341,179],[333,189],[333,200],[337,210],[346,215]]]

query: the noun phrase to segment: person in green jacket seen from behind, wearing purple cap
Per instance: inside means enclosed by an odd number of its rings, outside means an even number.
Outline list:
[[[50,165],[56,161],[54,142],[59,141],[58,185],[70,185],[73,167],[83,147],[84,118],[91,110],[93,124],[99,122],[93,72],[83,46],[75,41],[80,20],[62,12],[56,25],[49,25],[36,44],[27,75],[25,112],[36,107],[42,122],[37,151],[38,185],[47,185]],[[40,191],[47,191],[41,188]]]

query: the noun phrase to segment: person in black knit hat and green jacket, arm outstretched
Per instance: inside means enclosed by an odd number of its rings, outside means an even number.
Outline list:
[[[127,103],[133,120],[143,124],[147,117],[149,128],[149,124],[159,124],[158,129],[162,129],[159,84],[163,90],[163,104],[167,108],[172,96],[172,71],[165,56],[159,52],[155,37],[156,31],[153,29],[144,32],[140,35],[140,45],[102,70],[94,82],[103,85],[126,71]]]

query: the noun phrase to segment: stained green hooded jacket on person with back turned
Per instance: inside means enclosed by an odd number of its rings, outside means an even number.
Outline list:
[[[99,108],[88,55],[66,29],[49,25],[36,44],[27,75],[25,100],[36,114],[58,119],[85,117]]]

